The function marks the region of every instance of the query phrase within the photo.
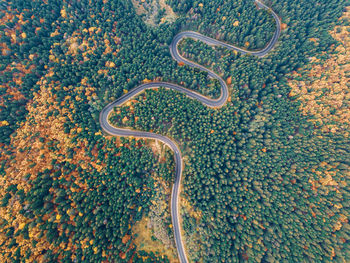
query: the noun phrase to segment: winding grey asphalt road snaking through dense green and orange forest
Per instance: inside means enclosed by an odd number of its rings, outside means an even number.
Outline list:
[[[276,21],[276,31],[275,31],[271,41],[262,50],[258,50],[258,51],[245,50],[245,49],[218,41],[216,39],[213,39],[213,38],[210,38],[207,36],[203,36],[199,33],[193,32],[193,31],[185,31],[185,32],[181,32],[181,33],[177,34],[174,37],[172,43],[170,44],[171,55],[176,61],[183,62],[184,64],[186,64],[190,67],[195,67],[195,68],[199,68],[203,71],[206,71],[210,77],[215,78],[220,82],[221,95],[218,99],[210,99],[210,98],[204,97],[203,95],[201,95],[197,92],[188,90],[188,89],[181,87],[179,85],[176,85],[176,84],[167,83],[167,82],[153,82],[153,83],[147,83],[147,84],[142,84],[140,86],[137,86],[136,88],[129,91],[127,94],[124,94],[123,96],[121,96],[119,99],[108,104],[100,113],[100,125],[102,127],[102,130],[105,133],[107,133],[109,135],[113,135],[113,136],[132,136],[132,137],[159,140],[159,141],[162,141],[163,143],[165,143],[166,145],[168,145],[174,151],[175,182],[174,182],[174,185],[172,188],[172,194],[171,194],[171,218],[172,218],[172,224],[173,224],[173,228],[174,228],[174,237],[175,237],[175,243],[176,243],[176,247],[177,247],[177,251],[178,251],[178,257],[179,257],[179,260],[181,263],[187,263],[188,260],[187,260],[184,245],[182,242],[181,227],[180,227],[180,222],[179,222],[179,209],[178,209],[180,182],[181,182],[181,176],[182,176],[182,170],[183,170],[183,161],[182,161],[180,149],[179,149],[178,145],[172,139],[170,139],[166,136],[158,135],[158,134],[151,133],[151,132],[142,132],[142,131],[135,131],[135,130],[130,130],[130,129],[114,127],[109,122],[108,117],[115,107],[121,106],[123,103],[130,100],[132,97],[135,97],[140,92],[142,92],[146,89],[154,89],[154,88],[159,88],[159,87],[164,87],[167,89],[173,89],[173,90],[177,90],[179,92],[182,92],[182,93],[186,94],[188,97],[190,97],[192,99],[196,99],[208,107],[221,107],[221,106],[223,106],[226,103],[227,98],[228,98],[228,87],[227,87],[225,81],[219,75],[214,73],[213,71],[182,57],[178,51],[178,44],[183,38],[193,38],[196,40],[200,40],[204,43],[207,43],[209,45],[221,46],[221,47],[228,48],[230,50],[236,50],[242,54],[251,54],[251,55],[258,56],[258,57],[265,56],[274,48],[274,46],[277,43],[277,40],[278,40],[280,33],[281,33],[281,23],[280,23],[278,16],[276,15],[276,13],[272,9],[270,9],[269,7],[264,5],[259,0],[255,0],[255,2],[259,8],[268,10],[272,14],[272,16],[274,17],[274,19]]]

